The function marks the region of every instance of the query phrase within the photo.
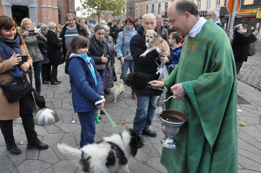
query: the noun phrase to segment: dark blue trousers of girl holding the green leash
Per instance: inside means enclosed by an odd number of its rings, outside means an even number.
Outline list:
[[[77,112],[81,124],[80,148],[84,145],[94,143],[95,137],[95,111]]]

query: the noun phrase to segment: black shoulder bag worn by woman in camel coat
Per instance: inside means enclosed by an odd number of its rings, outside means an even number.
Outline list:
[[[20,100],[33,91],[26,75],[15,77],[15,79],[10,82],[0,84],[0,87],[9,103]]]

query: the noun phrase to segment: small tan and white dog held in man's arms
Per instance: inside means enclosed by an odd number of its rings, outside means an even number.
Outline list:
[[[146,54],[148,54],[149,52],[151,52],[154,49],[157,49],[157,47],[162,44],[163,42],[166,42],[166,40],[164,40],[163,38],[161,38],[159,36],[158,33],[156,33],[153,30],[147,30],[144,31],[144,35],[145,35],[145,39],[146,39],[146,46],[147,46],[147,50],[140,55],[140,57],[145,57]],[[170,50],[169,50],[169,46],[167,47],[167,50],[162,51],[160,53],[160,55],[166,55],[169,56],[170,55]]]

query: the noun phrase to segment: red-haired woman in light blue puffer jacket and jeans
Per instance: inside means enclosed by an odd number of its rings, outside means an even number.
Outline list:
[[[129,42],[132,39],[132,36],[135,35],[137,32],[135,31],[134,26],[134,20],[130,17],[127,17],[125,20],[125,27],[123,32],[120,32],[117,39],[116,44],[116,52],[117,52],[117,59],[121,60],[121,63],[124,63],[121,67],[121,77],[124,81],[124,77],[127,75],[128,68],[131,73],[134,72],[134,60],[132,56],[123,59],[123,57],[126,57],[128,54],[130,54],[129,50]],[[132,92],[132,98],[134,100],[137,100],[136,93]]]

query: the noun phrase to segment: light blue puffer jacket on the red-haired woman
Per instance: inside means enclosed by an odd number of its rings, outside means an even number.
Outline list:
[[[117,39],[116,44],[116,52],[117,52],[117,59],[121,59],[121,57],[126,57],[128,54],[130,54],[129,50],[129,42],[132,39],[132,36],[135,35],[135,28],[129,29],[127,27],[124,27],[124,41],[123,39],[123,32],[120,32]],[[125,58],[125,60],[133,60],[132,56]]]

